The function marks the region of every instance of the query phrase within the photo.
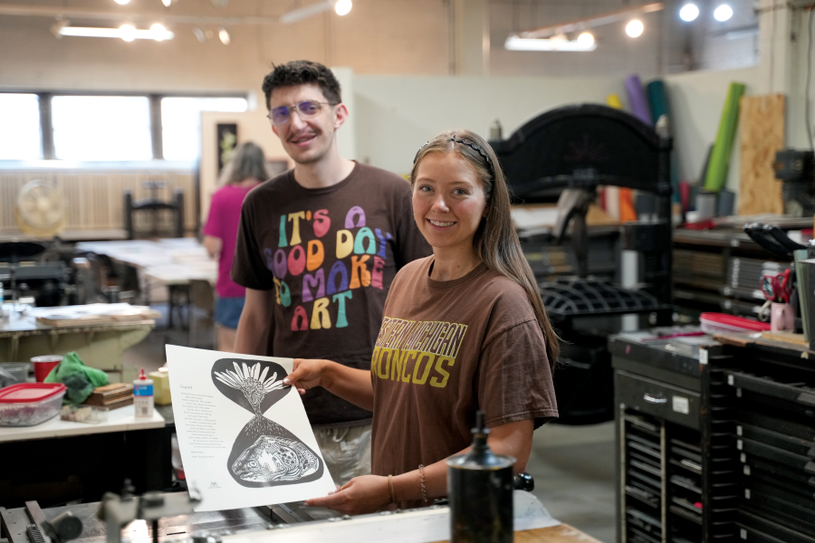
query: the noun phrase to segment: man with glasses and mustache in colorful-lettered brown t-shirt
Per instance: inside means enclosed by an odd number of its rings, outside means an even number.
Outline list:
[[[431,250],[405,179],[340,157],[340,83],[317,62],[277,66],[263,85],[294,168],[246,196],[232,278],[246,287],[238,353],[328,358],[369,368],[388,288]],[[334,481],[370,472],[369,411],[313,388],[303,396]]]

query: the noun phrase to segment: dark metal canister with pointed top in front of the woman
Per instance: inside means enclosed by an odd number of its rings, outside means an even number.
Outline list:
[[[512,456],[487,445],[484,412],[475,415],[473,448],[447,460],[451,543],[513,541]]]

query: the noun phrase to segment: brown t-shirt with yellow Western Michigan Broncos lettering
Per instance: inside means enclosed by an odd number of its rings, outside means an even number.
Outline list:
[[[488,427],[557,417],[542,331],[526,292],[480,264],[454,281],[429,278],[433,257],[393,281],[371,358],[371,472],[398,475],[473,442]]]

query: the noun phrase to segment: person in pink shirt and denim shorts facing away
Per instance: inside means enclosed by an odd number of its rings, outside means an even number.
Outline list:
[[[218,259],[215,321],[217,349],[220,351],[235,352],[235,330],[246,297],[246,289],[229,277],[235,258],[241,205],[249,191],[270,176],[263,149],[246,142],[235,148],[218,180],[218,189],[212,195],[209,217],[204,226],[204,246],[211,257]]]

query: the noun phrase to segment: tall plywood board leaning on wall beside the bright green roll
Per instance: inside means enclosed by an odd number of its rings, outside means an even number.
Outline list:
[[[784,148],[784,95],[744,96],[739,112],[739,214],[783,214],[775,152]]]

